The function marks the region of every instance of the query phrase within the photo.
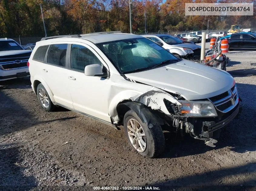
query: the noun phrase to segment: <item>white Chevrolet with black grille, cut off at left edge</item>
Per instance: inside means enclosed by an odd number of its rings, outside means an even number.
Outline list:
[[[0,81],[29,76],[27,62],[31,50],[25,50],[15,40],[0,39]]]

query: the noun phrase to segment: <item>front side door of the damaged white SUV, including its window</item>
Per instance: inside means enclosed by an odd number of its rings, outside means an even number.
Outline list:
[[[100,64],[104,67],[103,63],[105,64],[90,46],[83,43],[72,44],[70,69],[66,79],[75,110],[111,122],[108,114],[110,80],[98,76],[86,76],[84,72],[87,65]]]

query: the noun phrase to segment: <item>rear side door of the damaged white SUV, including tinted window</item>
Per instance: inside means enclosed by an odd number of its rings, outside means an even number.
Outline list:
[[[47,63],[44,64],[42,72],[55,101],[66,107],[73,108],[73,101],[68,91],[67,47],[68,43],[65,42],[51,44],[46,55]]]

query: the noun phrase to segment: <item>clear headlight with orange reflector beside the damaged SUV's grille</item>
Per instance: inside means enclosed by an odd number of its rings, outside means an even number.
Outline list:
[[[214,117],[218,116],[214,105],[210,101],[182,101],[178,105],[179,111],[188,117]]]

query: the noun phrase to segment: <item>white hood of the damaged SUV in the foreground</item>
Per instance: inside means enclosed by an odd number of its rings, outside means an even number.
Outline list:
[[[187,100],[219,95],[231,89],[235,83],[228,72],[189,60],[125,76],[164,91],[181,94]]]

